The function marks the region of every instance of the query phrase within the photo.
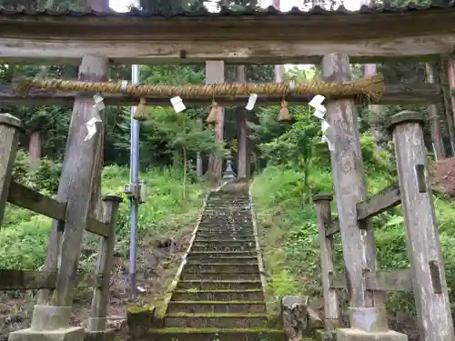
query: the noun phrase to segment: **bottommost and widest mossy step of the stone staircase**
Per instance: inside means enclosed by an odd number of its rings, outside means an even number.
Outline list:
[[[147,341],[285,341],[283,330],[268,328],[161,328],[141,337]]]

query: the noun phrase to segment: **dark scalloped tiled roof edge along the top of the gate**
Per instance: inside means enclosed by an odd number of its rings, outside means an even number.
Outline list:
[[[316,6],[310,11],[302,11],[298,7],[292,7],[288,12],[280,12],[273,6],[268,8],[253,9],[245,8],[241,11],[233,11],[227,8],[222,8],[219,12],[208,12],[207,10],[200,10],[197,12],[178,11],[174,13],[164,12],[147,12],[139,11],[136,8],[126,13],[111,12],[96,12],[96,11],[72,11],[72,10],[27,10],[24,8],[5,8],[0,7],[0,15],[55,15],[55,16],[118,16],[118,17],[176,17],[176,16],[187,16],[187,17],[219,17],[219,16],[250,16],[250,15],[359,15],[359,14],[381,14],[381,13],[402,13],[410,11],[429,11],[434,9],[449,9],[455,8],[455,0],[444,1],[444,0],[433,0],[430,5],[416,5],[415,3],[409,3],[404,7],[391,7],[382,6],[378,8],[370,8],[367,5],[362,5],[359,10],[349,11],[343,5],[340,5],[337,10],[329,11],[320,6]]]

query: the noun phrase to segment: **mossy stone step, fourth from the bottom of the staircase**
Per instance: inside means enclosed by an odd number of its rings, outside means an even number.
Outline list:
[[[262,289],[249,290],[175,290],[171,301],[261,301]]]

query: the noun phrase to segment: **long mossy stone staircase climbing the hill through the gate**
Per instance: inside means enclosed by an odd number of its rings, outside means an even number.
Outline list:
[[[259,261],[248,184],[211,193],[159,327],[140,339],[283,341],[267,311]]]

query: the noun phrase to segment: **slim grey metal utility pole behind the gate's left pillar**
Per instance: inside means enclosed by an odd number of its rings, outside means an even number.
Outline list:
[[[140,8],[139,1],[135,1],[136,8]],[[139,83],[139,65],[132,65],[131,83]],[[131,106],[131,154],[130,154],[130,181],[138,188],[139,186],[139,122],[134,118],[136,106]],[[135,191],[137,192],[137,191]],[[129,284],[131,295],[136,296],[136,228],[139,202],[136,196],[131,196],[131,237],[129,249]]]

